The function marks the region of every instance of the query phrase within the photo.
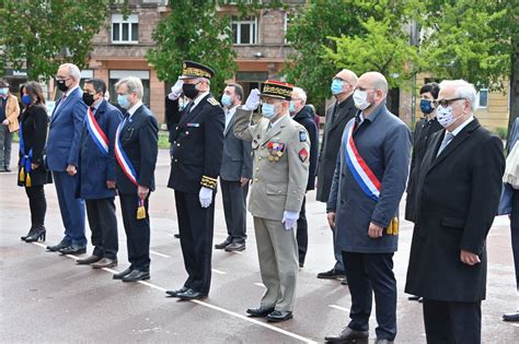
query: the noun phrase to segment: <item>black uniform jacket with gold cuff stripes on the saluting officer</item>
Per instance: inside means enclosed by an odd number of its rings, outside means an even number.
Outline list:
[[[171,173],[168,187],[181,192],[198,193],[200,187],[216,189],[223,152],[223,109],[206,95],[191,111],[182,110],[173,128]]]

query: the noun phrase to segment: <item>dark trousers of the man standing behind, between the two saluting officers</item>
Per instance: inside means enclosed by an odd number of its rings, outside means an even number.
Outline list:
[[[249,183],[243,188],[240,181],[220,180],[223,213],[226,214],[228,239],[245,242],[246,238],[246,194]]]

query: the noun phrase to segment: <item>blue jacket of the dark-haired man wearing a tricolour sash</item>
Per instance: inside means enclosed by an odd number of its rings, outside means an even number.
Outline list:
[[[115,189],[106,187],[107,180],[115,181],[114,142],[123,114],[112,104],[103,100],[94,114],[101,130],[108,139],[108,156],[94,143],[84,120],[80,150],[80,197],[85,200],[115,197]]]

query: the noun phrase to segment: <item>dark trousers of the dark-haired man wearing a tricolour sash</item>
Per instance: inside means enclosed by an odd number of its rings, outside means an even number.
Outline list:
[[[119,249],[117,238],[117,218],[115,216],[115,198],[84,200],[86,216],[92,230],[93,254],[117,259]]]

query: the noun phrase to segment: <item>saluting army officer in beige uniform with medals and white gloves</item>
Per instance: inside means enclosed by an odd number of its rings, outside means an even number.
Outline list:
[[[252,141],[253,182],[249,211],[254,216],[260,271],[266,292],[252,317],[268,321],[292,318],[298,275],[295,227],[309,173],[310,141],[304,127],[289,115],[292,85],[266,81],[253,90],[234,115],[234,135]],[[251,126],[262,98],[263,118]]]

